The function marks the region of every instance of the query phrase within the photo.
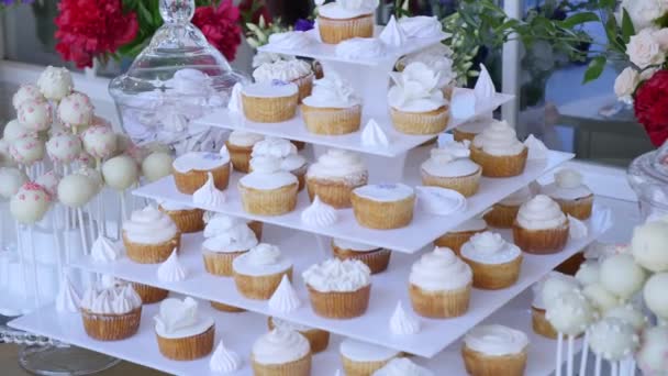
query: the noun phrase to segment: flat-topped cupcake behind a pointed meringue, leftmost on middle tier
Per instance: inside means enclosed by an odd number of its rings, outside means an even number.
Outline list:
[[[176,188],[186,195],[192,195],[213,176],[215,188],[224,190],[230,181],[230,154],[190,152],[176,158],[171,165]]]

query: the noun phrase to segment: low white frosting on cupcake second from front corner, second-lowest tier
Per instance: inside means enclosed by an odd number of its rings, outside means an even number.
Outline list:
[[[461,246],[461,256],[483,264],[510,263],[521,254],[519,246],[490,231],[475,234]]]

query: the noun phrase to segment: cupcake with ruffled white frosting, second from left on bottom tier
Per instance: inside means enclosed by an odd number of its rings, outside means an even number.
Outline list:
[[[213,350],[215,323],[198,312],[198,302],[187,297],[165,299],[155,319],[155,334],[163,356],[172,361],[194,361]]]

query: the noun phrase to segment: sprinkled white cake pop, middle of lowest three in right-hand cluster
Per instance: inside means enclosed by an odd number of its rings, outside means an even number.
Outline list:
[[[617,318],[606,318],[589,328],[589,346],[602,358],[616,362],[632,355],[639,345],[633,327]]]

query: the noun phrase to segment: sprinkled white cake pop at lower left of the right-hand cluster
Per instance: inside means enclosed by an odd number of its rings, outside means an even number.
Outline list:
[[[559,333],[577,336],[594,320],[595,311],[579,291],[561,294],[547,305],[545,318]]]

